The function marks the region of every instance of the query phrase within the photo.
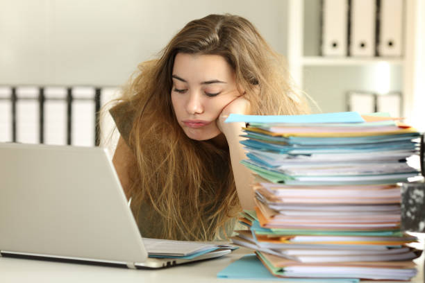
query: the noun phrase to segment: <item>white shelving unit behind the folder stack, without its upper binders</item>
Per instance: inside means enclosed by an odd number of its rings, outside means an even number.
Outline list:
[[[403,58],[338,58],[319,55],[320,0],[288,0],[288,69],[295,83],[325,112],[347,110],[345,97],[352,90],[401,92],[402,114],[409,120],[419,92],[415,84],[422,55],[417,47],[422,40],[417,28],[420,1],[404,3]]]

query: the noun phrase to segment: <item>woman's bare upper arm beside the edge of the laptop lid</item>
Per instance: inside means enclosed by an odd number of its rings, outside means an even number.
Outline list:
[[[126,141],[124,141],[122,137],[119,137],[117,148],[115,149],[113,157],[113,164],[127,199],[129,198],[128,188],[130,186],[130,169],[132,164],[134,164],[134,158],[133,151],[131,151],[128,147]]]

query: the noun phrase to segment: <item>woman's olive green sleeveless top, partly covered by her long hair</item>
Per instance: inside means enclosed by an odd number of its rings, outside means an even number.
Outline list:
[[[134,116],[130,108],[131,105],[128,103],[119,103],[109,110],[115,121],[117,130],[128,145],[128,139],[130,137]],[[158,221],[160,217],[160,214],[155,209],[153,209],[149,203],[144,203],[140,206],[139,217],[137,221],[142,237],[157,239],[160,237],[160,231],[162,230],[162,222]],[[229,221],[228,226],[226,227],[226,233],[229,235],[229,237],[233,234],[235,226],[238,226],[238,229],[244,229],[242,225],[238,225],[237,223],[237,218],[234,218],[233,221]],[[222,235],[222,237],[223,236],[224,235]]]

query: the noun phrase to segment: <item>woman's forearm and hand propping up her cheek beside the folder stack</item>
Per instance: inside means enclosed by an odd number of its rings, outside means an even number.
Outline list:
[[[246,166],[240,163],[246,158],[244,148],[239,143],[243,139],[240,135],[243,134],[242,127],[245,126],[245,123],[224,123],[224,121],[230,113],[249,114],[249,108],[249,101],[240,96],[224,108],[217,120],[217,126],[223,132],[228,143],[236,191],[238,191],[242,209],[253,209],[255,206],[252,189],[253,175]]]

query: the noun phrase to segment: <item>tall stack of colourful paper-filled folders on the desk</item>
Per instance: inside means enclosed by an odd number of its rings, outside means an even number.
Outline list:
[[[417,177],[406,162],[419,132],[385,113],[294,116],[231,114],[247,123],[242,163],[255,211],[233,242],[256,250],[277,277],[410,280],[415,237],[400,230],[401,189]]]

